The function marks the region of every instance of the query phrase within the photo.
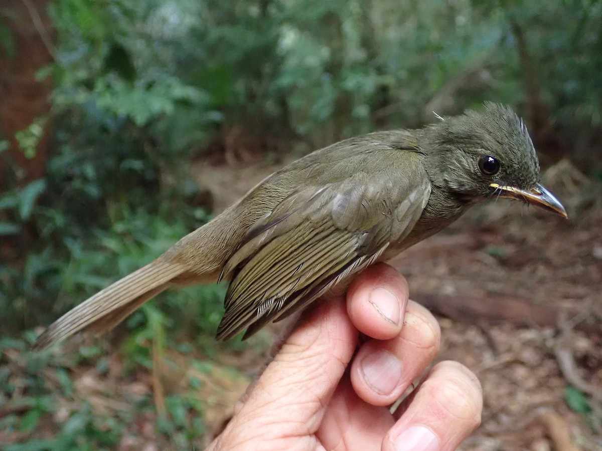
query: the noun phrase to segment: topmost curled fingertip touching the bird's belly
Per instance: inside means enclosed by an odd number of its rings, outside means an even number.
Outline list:
[[[361,333],[379,340],[396,337],[408,303],[408,283],[385,263],[363,271],[347,290],[347,313]]]

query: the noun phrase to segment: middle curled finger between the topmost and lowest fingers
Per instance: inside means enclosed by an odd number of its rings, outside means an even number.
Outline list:
[[[351,367],[353,388],[361,399],[385,406],[402,396],[439,351],[441,330],[422,305],[409,301],[399,335],[391,340],[369,340]]]

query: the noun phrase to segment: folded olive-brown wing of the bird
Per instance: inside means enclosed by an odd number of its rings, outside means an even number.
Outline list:
[[[402,155],[403,153],[403,155]],[[249,337],[376,262],[411,232],[430,195],[417,153],[382,149],[336,182],[300,184],[247,232],[223,269],[231,280],[217,331]]]

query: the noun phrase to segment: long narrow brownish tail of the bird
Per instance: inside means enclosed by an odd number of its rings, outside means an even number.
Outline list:
[[[52,323],[34,343],[43,349],[79,331],[111,330],[144,302],[167,289],[185,266],[155,260],[96,293]]]

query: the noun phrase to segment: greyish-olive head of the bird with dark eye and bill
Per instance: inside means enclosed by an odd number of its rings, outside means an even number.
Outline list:
[[[566,218],[562,204],[539,183],[535,148],[512,109],[486,102],[483,111],[441,118],[424,129],[423,139],[433,185],[469,202],[507,197]]]

